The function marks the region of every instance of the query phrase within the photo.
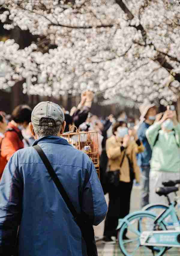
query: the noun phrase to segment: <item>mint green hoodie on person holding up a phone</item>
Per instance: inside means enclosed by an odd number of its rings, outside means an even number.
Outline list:
[[[167,133],[161,130],[161,123],[155,123],[147,129],[146,136],[152,148],[151,170],[180,172],[180,124],[174,126],[174,131]]]

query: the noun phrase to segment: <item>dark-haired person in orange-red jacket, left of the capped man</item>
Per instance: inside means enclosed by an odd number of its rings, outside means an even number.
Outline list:
[[[1,143],[1,156],[9,161],[10,157],[19,149],[24,148],[21,130],[27,128],[31,122],[32,109],[28,105],[19,105],[12,112],[12,120],[7,125]]]

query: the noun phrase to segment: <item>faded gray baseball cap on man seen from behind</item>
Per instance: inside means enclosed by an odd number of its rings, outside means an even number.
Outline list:
[[[52,122],[49,122],[48,118],[51,118]],[[33,124],[39,126],[58,126],[64,121],[64,112],[59,105],[43,101],[33,109],[31,120]]]

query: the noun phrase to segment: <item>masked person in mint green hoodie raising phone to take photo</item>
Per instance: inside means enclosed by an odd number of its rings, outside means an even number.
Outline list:
[[[149,202],[167,203],[166,197],[160,198],[155,190],[163,181],[180,179],[180,123],[176,111],[158,114],[146,137],[152,148]],[[173,194],[170,196],[173,200]]]

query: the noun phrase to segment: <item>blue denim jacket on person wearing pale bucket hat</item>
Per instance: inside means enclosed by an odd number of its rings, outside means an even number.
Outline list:
[[[137,131],[138,138],[143,142],[145,148],[144,152],[137,155],[137,164],[139,166],[150,166],[152,149],[146,137],[146,130],[149,128],[149,126],[150,125],[148,123],[143,122]]]

